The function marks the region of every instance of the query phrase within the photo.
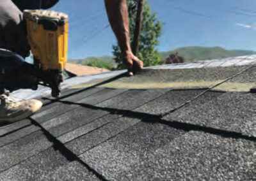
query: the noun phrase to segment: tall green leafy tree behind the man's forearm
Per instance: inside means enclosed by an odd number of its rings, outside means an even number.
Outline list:
[[[136,22],[136,0],[128,0],[127,4],[129,8],[129,27],[132,43]],[[161,35],[162,24],[157,20],[156,13],[151,12],[147,1],[145,1],[143,8],[143,24],[140,34],[138,58],[144,62],[144,66],[154,66],[161,62],[161,56],[157,52],[156,46],[159,44],[158,38]],[[118,45],[113,45],[113,55],[118,69],[124,68],[124,64],[122,63],[123,57]]]

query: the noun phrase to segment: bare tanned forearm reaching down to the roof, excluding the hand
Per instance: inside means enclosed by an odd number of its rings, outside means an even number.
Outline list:
[[[126,0],[105,0],[109,22],[122,52],[131,52],[129,15]]]

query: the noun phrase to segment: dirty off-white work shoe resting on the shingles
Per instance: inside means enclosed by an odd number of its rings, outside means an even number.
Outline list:
[[[26,119],[42,108],[42,102],[36,99],[14,101],[5,94],[0,95],[0,123],[12,123]]]

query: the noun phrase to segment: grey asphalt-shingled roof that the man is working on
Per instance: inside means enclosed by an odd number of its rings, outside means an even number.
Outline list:
[[[255,180],[255,62],[76,77],[55,100],[14,92],[44,107],[0,128],[0,180]]]

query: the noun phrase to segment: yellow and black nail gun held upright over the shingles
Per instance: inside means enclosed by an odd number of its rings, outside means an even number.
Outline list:
[[[24,10],[28,41],[34,59],[32,75],[60,95],[67,62],[68,15],[49,10]]]

